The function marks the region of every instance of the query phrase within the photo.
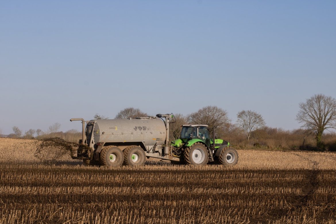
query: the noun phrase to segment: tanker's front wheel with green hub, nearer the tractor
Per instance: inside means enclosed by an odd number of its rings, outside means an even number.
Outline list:
[[[136,145],[128,146],[124,149],[124,165],[142,166],[146,161],[146,154],[143,149]]]

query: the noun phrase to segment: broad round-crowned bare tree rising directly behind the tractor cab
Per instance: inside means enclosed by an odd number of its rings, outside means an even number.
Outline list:
[[[213,127],[222,128],[230,122],[226,110],[217,106],[205,106],[197,112],[188,116],[188,122],[191,124],[209,125],[211,132]]]

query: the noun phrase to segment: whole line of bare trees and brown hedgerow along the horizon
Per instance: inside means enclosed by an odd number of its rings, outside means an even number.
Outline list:
[[[299,104],[300,110],[296,120],[302,124],[301,129],[284,131],[266,126],[262,115],[252,110],[242,110],[237,114],[236,123],[227,116],[227,111],[218,106],[205,106],[189,115],[174,114],[173,123],[170,124],[171,139],[179,138],[181,125],[203,124],[209,126],[210,133],[215,127],[218,138],[233,141],[234,144],[244,147],[281,148],[281,149],[317,149],[336,150],[336,134],[327,133],[327,129],[336,129],[336,99],[323,94],[316,94],[305,102]],[[128,119],[148,117],[149,115],[139,108],[128,107],[119,111],[114,119]],[[106,116],[95,114],[93,119],[109,119]],[[45,138],[61,137],[70,141],[78,141],[81,133],[75,129],[59,132],[60,124],[54,123],[43,132],[41,129],[29,129],[25,133],[17,126],[12,127],[13,133],[7,137],[12,138]],[[245,136],[245,137],[244,137]],[[281,137],[282,136],[282,137]],[[295,136],[293,138],[293,136]],[[227,139],[228,138],[228,139]],[[295,140],[297,138],[297,140]],[[314,145],[311,139],[314,138]],[[251,141],[252,139],[252,141]],[[287,140],[286,140],[287,139]],[[291,139],[292,145],[288,139]],[[298,140],[299,139],[299,140]],[[323,141],[324,140],[324,141]],[[302,141],[300,143],[300,141]]]

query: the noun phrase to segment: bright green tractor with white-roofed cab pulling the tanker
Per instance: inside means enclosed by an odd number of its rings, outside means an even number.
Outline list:
[[[182,125],[181,136],[171,142],[173,156],[180,164],[205,165],[207,163],[234,166],[238,163],[238,152],[222,139],[210,138],[208,125]],[[213,141],[213,139],[215,139]]]

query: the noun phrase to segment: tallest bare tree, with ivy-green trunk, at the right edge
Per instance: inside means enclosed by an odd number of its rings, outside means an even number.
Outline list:
[[[299,104],[296,120],[301,127],[315,134],[318,148],[322,148],[322,134],[328,128],[336,128],[336,99],[323,94],[316,94]]]

